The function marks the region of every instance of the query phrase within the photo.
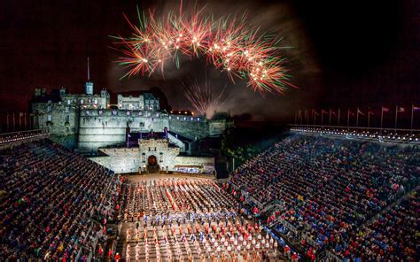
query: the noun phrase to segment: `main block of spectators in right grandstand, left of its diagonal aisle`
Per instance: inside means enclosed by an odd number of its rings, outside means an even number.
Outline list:
[[[358,228],[417,184],[419,159],[413,146],[291,135],[230,182],[263,206],[276,200],[276,219],[344,257]]]

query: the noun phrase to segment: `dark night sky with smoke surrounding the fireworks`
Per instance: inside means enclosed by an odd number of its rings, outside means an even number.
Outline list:
[[[27,111],[35,87],[83,92],[87,57],[96,92],[157,86],[174,108],[190,108],[183,82],[204,81],[205,75],[212,85],[228,84],[230,98],[222,110],[253,119],[290,119],[299,108],[420,105],[419,1],[198,2],[216,16],[246,12],[251,26],[284,38],[286,66],[299,87],[285,96],[261,96],[245,81],[233,84],[203,58],[167,68],[165,80],[156,73],[120,81],[124,70],[114,62],[119,53],[110,48],[109,35],[129,35],[122,14],[135,21],[136,4],[159,14],[179,3],[143,2],[1,1],[0,111]]]

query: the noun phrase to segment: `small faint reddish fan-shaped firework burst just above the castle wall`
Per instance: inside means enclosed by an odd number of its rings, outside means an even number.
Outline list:
[[[207,85],[207,81],[204,85],[200,85],[196,80],[190,85],[184,85],[184,87],[185,97],[187,97],[194,109],[202,115],[210,116],[229,98],[229,95],[226,94],[226,86],[218,91]]]

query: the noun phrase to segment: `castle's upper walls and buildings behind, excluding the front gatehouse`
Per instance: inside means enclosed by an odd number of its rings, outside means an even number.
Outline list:
[[[100,95],[67,94],[60,89],[58,96],[38,94],[32,102],[34,127],[48,129],[51,139],[84,152],[127,142],[127,132],[163,130],[191,140],[209,135],[221,135],[232,127],[227,114],[217,118],[168,113],[159,109],[159,99],[151,93],[121,96],[117,107],[110,106],[106,90]],[[144,107],[144,109],[142,109]],[[136,109],[137,108],[137,109]]]

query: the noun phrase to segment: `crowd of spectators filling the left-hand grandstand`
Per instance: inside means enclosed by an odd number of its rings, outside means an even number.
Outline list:
[[[74,261],[93,250],[103,224],[91,218],[113,216],[117,179],[48,140],[2,150],[0,260]]]

